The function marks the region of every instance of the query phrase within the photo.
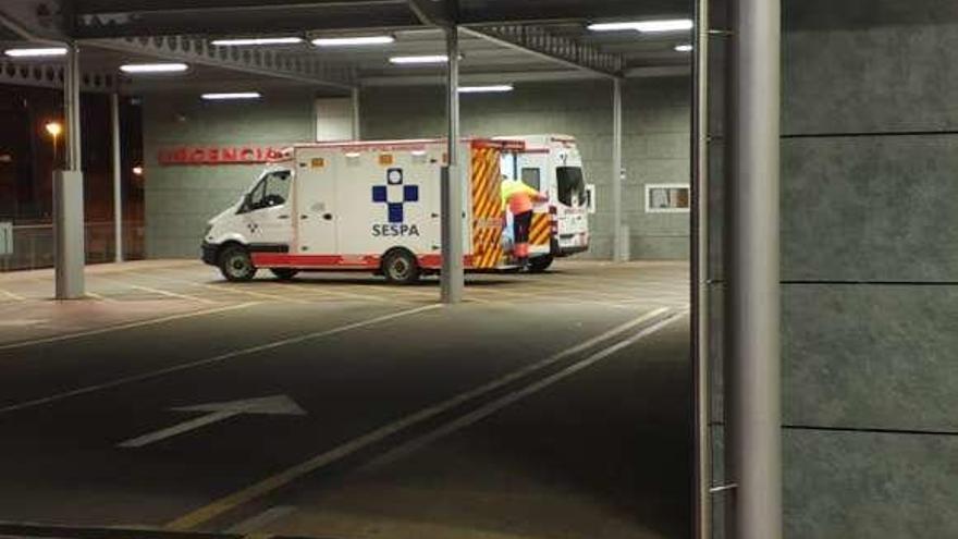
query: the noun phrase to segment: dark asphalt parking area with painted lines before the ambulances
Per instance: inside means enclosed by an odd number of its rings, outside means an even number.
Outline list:
[[[681,538],[687,268],[223,283],[0,278],[0,520],[342,538]],[[28,528],[24,528],[28,529]],[[0,535],[4,529],[0,528]],[[9,532],[9,530],[7,530]]]

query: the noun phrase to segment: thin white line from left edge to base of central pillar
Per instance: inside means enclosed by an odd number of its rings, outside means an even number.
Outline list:
[[[3,408],[0,408],[0,414],[7,414],[9,412],[15,412],[15,411],[20,411],[20,409],[34,408],[36,406],[50,404],[50,403],[53,403],[57,401],[62,401],[64,399],[71,399],[71,397],[78,396],[78,395],[85,395],[87,393],[94,393],[96,391],[102,391],[102,390],[107,390],[107,389],[118,388],[120,385],[125,385],[127,383],[140,382],[144,380],[149,380],[151,378],[158,378],[161,376],[171,375],[173,372],[180,372],[182,370],[189,370],[189,369],[194,369],[197,367],[204,367],[207,365],[212,365],[216,363],[225,362],[226,359],[232,359],[234,357],[240,357],[240,356],[245,356],[245,355],[249,355],[249,354],[256,354],[258,352],[265,352],[268,350],[279,348],[279,347],[285,346],[287,344],[296,344],[296,343],[309,341],[312,339],[319,339],[322,336],[334,335],[337,333],[343,333],[345,331],[365,328],[367,326],[372,326],[372,324],[376,324],[379,322],[384,322],[388,320],[393,320],[395,318],[401,318],[401,317],[409,316],[409,315],[416,315],[416,314],[423,313],[423,311],[431,310],[431,309],[435,309],[439,307],[441,307],[440,304],[434,304],[434,305],[427,305],[425,307],[417,307],[415,309],[401,310],[398,313],[392,313],[390,315],[383,315],[383,316],[379,316],[376,318],[370,318],[368,320],[361,320],[358,322],[352,322],[352,323],[347,323],[345,326],[339,326],[336,328],[332,328],[332,329],[328,329],[328,330],[323,330],[323,331],[317,331],[315,333],[307,333],[305,335],[293,336],[290,339],[283,339],[281,341],[273,341],[271,343],[260,344],[257,346],[250,346],[248,348],[234,350],[233,352],[226,352],[225,354],[220,354],[217,356],[208,357],[206,359],[199,359],[196,362],[191,362],[191,363],[186,363],[186,364],[182,364],[182,365],[174,365],[172,367],[167,367],[164,369],[159,369],[159,370],[152,370],[152,371],[144,372],[140,375],[133,375],[133,376],[128,376],[128,377],[124,377],[124,378],[118,378],[115,380],[112,380],[109,382],[103,382],[103,383],[98,383],[95,385],[86,385],[84,388],[77,388],[75,390],[64,391],[62,393],[57,393],[57,394],[50,395],[50,396],[34,399],[32,401],[25,401],[25,402],[17,403],[17,404],[11,404],[10,406],[5,406]]]

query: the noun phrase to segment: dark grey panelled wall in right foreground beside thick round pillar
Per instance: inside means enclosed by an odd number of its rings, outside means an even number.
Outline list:
[[[785,537],[958,537],[958,10],[785,23]]]

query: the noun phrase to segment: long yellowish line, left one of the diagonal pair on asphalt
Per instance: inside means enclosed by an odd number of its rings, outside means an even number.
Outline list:
[[[489,393],[490,391],[494,391],[495,389],[501,388],[501,387],[512,382],[513,380],[516,380],[516,379],[521,378],[530,372],[533,372],[536,370],[548,367],[549,365],[552,365],[552,364],[565,358],[565,357],[568,357],[568,356],[574,355],[576,353],[579,353],[581,351],[588,350],[591,346],[594,346],[595,344],[601,343],[602,341],[605,341],[605,340],[611,339],[619,333],[628,331],[629,329],[635,328],[636,326],[639,326],[648,320],[654,319],[654,318],[656,318],[667,311],[668,311],[668,309],[666,309],[666,308],[655,309],[655,310],[648,313],[643,316],[640,316],[640,317],[635,318],[632,320],[629,320],[623,324],[619,324],[619,326],[617,326],[617,327],[615,327],[615,328],[613,328],[613,329],[611,329],[600,335],[597,335],[597,336],[593,336],[592,339],[584,341],[584,342],[581,342],[570,348],[566,348],[562,352],[553,354],[553,355],[546,357],[545,359],[542,359],[542,360],[539,360],[535,364],[528,365],[521,369],[515,370],[515,371],[509,372],[505,376],[496,378],[495,380],[492,380],[491,382],[484,383],[482,385],[479,385],[478,388],[466,391],[464,393],[459,393],[458,395],[453,396],[451,399],[447,399],[447,400],[445,400],[441,403],[438,403],[433,406],[429,406],[429,407],[423,408],[419,412],[416,412],[416,413],[410,414],[408,416],[405,416],[401,419],[397,419],[389,425],[385,425],[385,426],[380,427],[371,432],[368,432],[364,436],[360,436],[359,438],[355,438],[348,442],[345,442],[341,445],[337,445],[336,448],[333,448],[329,451],[320,453],[320,454],[318,454],[307,461],[304,461],[293,467],[286,468],[285,470],[280,471],[279,474],[275,474],[271,477],[262,479],[259,482],[253,483],[249,487],[246,487],[242,490],[233,492],[232,494],[229,494],[224,498],[216,500],[208,505],[199,507],[191,513],[187,513],[186,515],[183,515],[180,518],[176,518],[175,520],[169,523],[165,526],[165,528],[182,531],[182,530],[188,530],[188,529],[192,529],[196,526],[199,526],[200,524],[209,522],[210,519],[216,518],[217,516],[219,516],[223,513],[226,513],[238,505],[243,505],[244,503],[247,503],[256,498],[268,494],[268,493],[285,486],[285,485],[288,485],[288,483],[295,481],[296,479],[298,479],[305,475],[311,474],[320,468],[329,466],[330,464],[335,463],[336,461],[340,461],[346,456],[349,456],[351,454],[353,454],[357,451],[360,451],[368,445],[371,445],[376,442],[379,442],[380,440],[389,438],[390,436],[393,436],[396,432],[401,432],[401,431],[408,429],[415,425],[418,425],[418,424],[420,424],[431,417],[434,417],[437,415],[442,414],[443,412],[452,409],[452,408],[458,406],[459,404],[467,402],[471,399],[480,396],[484,393]],[[2,409],[0,409],[0,413],[2,413]]]

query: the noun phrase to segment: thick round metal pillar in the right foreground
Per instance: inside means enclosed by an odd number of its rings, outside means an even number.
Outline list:
[[[725,323],[728,537],[782,537],[778,286],[781,0],[732,10]]]

